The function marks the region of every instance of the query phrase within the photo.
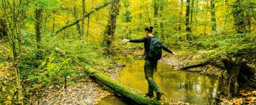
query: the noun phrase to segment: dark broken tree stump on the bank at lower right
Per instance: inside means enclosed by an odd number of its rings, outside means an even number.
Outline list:
[[[232,98],[237,95],[239,88],[255,88],[255,68],[246,64],[240,58],[230,58],[225,55],[221,57],[225,65],[225,71],[219,76],[219,87],[217,97]]]

